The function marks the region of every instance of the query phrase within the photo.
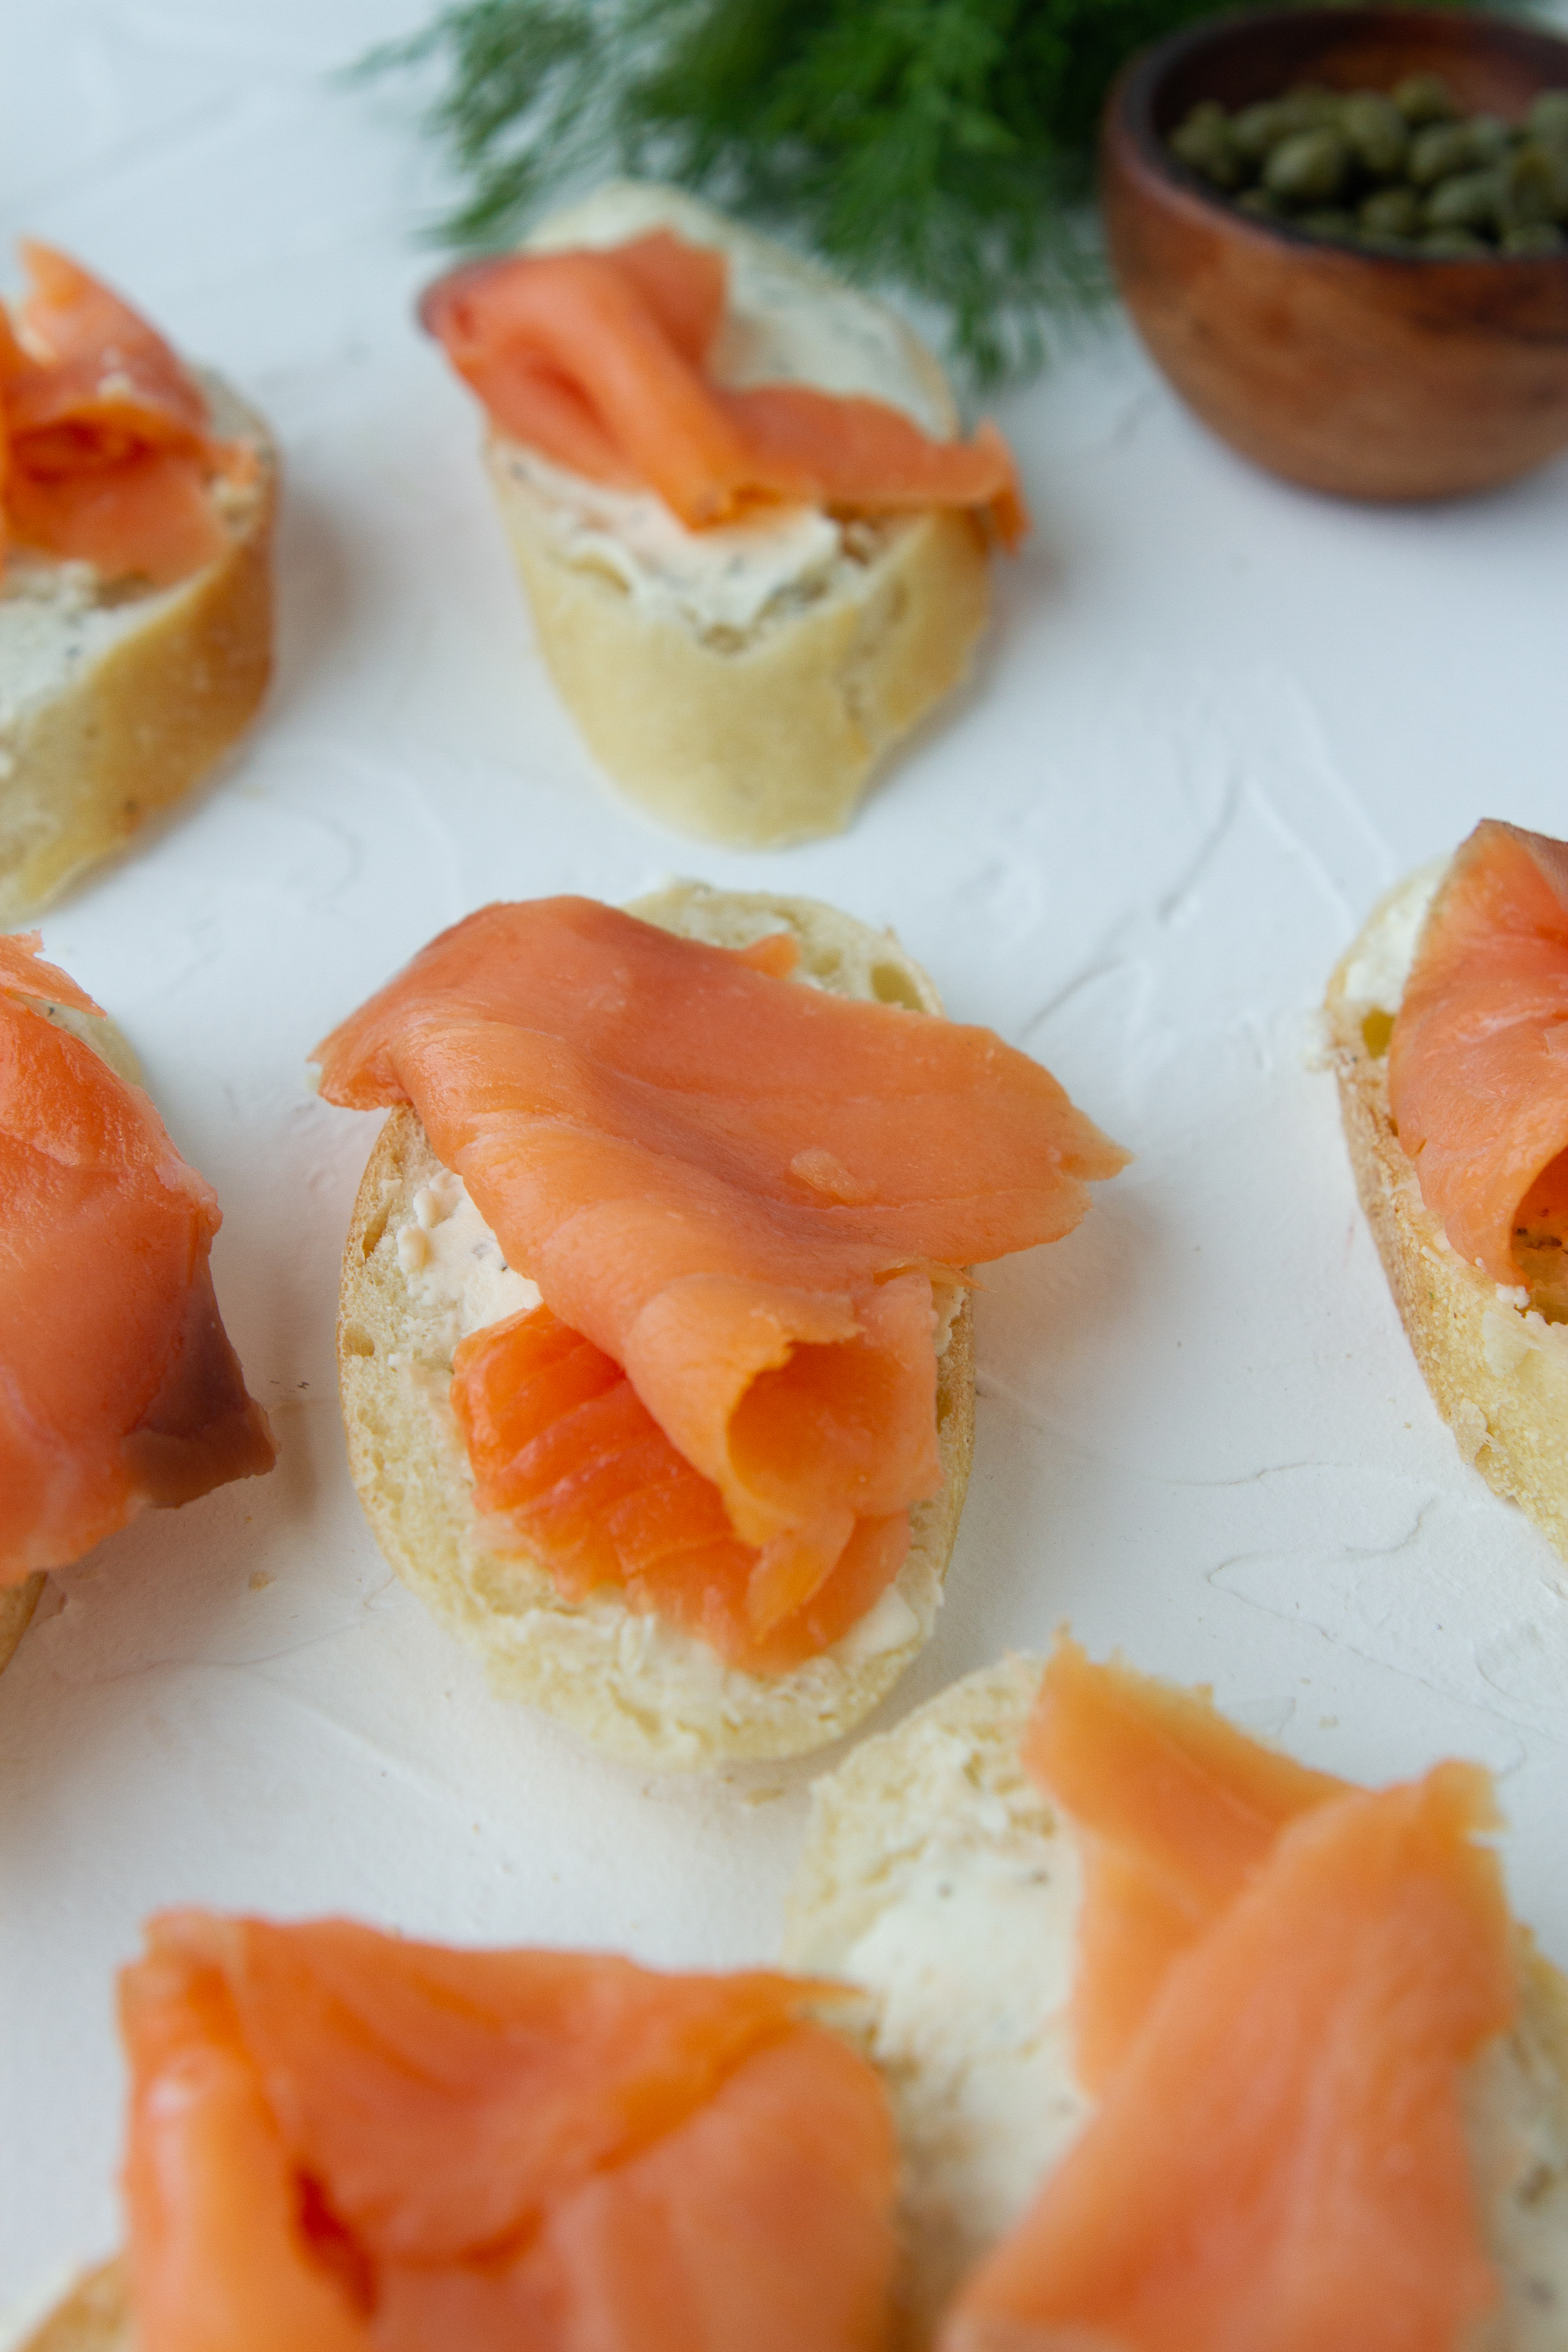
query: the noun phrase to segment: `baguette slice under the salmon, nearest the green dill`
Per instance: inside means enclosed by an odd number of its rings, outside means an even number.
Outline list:
[[[529,245],[621,245],[654,228],[726,254],[731,329],[738,318],[769,348],[804,318],[809,381],[835,393],[898,386],[926,430],[957,428],[938,362],[896,313],[675,188],[614,183]],[[792,355],[783,365],[806,372]],[[759,381],[741,360],[736,369],[731,381]],[[571,477],[555,480],[517,442],[491,433],[484,463],[562,701],[595,760],[679,833],[741,849],[839,833],[879,760],[969,670],[990,607],[985,529],[969,513],[846,524],[835,555],[818,550],[795,576],[785,564],[766,607],[736,619],[677,597],[661,562],[639,562],[625,539],[614,546],[614,520],[585,527],[559,494]],[[785,520],[773,539],[788,543],[790,529]],[[769,529],[750,536],[762,543]]]

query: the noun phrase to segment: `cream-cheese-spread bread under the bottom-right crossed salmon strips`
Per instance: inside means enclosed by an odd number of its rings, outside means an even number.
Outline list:
[[[1079,1860],[1018,1740],[1044,1661],[966,1675],[813,1788],[783,1962],[863,1985],[905,2157],[900,2352],[1020,2220],[1091,2103],[1072,2072]],[[1505,2284],[1486,2352],[1568,2352],[1568,1978],[1519,1931],[1521,2013],[1472,2067]],[[1476,2347],[1479,2352],[1479,2347]]]

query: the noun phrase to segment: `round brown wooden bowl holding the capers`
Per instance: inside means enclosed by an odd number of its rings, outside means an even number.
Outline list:
[[[1568,42],[1493,16],[1260,9],[1133,59],[1105,111],[1112,263],[1150,353],[1244,456],[1352,499],[1490,489],[1568,447],[1568,254],[1361,254],[1237,212],[1168,153],[1199,99],[1441,73],[1519,120],[1568,87]]]

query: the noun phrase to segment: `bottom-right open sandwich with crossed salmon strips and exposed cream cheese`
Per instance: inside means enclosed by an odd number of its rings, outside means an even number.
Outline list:
[[[1488,1776],[1363,1790],[1070,1642],[813,1792],[919,2352],[1563,2352],[1568,1983]]]

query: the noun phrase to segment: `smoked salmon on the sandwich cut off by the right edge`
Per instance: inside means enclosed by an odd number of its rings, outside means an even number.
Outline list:
[[[1568,842],[1486,818],[1460,844],[1394,1021],[1389,1110],[1458,1254],[1568,1319]]]

